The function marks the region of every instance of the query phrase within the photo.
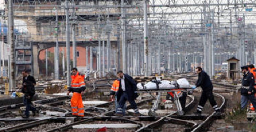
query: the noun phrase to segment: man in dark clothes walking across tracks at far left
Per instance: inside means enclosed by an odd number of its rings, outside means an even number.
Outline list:
[[[19,89],[24,93],[23,103],[26,106],[25,116],[23,118],[29,118],[29,111],[33,112],[33,116],[36,115],[36,108],[32,107],[32,98],[35,95],[35,85],[36,81],[33,76],[29,75],[29,71],[22,71],[22,87]]]

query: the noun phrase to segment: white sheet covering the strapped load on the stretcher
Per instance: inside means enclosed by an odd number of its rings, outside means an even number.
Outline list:
[[[173,83],[174,82],[163,80],[159,84],[159,89],[175,89],[176,87]],[[189,81],[187,81],[187,79],[179,79],[177,80],[177,83],[179,84],[180,87],[183,87],[183,88],[190,87]],[[148,82],[147,84],[144,85],[144,87],[142,86],[141,83],[138,83],[137,88],[139,90],[155,90],[157,89],[157,86],[156,86],[156,83]]]

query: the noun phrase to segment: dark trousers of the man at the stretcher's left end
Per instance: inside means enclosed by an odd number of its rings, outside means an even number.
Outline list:
[[[135,113],[139,113],[139,110],[137,108],[137,104],[136,104],[135,100],[128,99],[127,92],[123,92],[123,94],[122,94],[122,96],[121,96],[121,98],[119,100],[118,109],[117,109],[116,113],[118,113],[118,114],[122,114],[123,113],[123,108],[124,108],[124,105],[125,105],[127,100],[131,104],[132,109],[134,109],[134,112]]]

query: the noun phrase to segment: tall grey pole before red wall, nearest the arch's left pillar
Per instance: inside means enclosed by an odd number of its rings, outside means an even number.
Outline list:
[[[55,31],[56,31],[56,46],[55,46],[55,79],[59,79],[59,24],[58,24],[58,9],[55,8],[56,11],[56,21],[55,21]]]

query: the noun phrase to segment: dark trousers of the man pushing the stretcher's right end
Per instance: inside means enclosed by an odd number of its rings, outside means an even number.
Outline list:
[[[199,105],[197,107],[197,112],[199,113],[202,112],[203,107],[205,107],[207,100],[210,101],[210,104],[212,105],[215,111],[220,111],[220,108],[218,107],[216,101],[214,100],[213,91],[210,90],[210,91],[203,91],[199,101]]]

